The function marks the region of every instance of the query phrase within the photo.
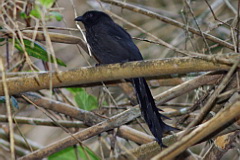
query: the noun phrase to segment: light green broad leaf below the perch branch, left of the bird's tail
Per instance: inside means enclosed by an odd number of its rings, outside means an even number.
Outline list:
[[[74,95],[74,100],[79,108],[91,111],[98,107],[97,98],[88,94],[84,89],[68,88],[68,90]]]

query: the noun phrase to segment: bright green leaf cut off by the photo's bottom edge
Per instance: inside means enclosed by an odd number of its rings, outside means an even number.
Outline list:
[[[100,158],[87,147],[83,148],[78,146],[77,150],[81,160],[89,160],[89,159],[100,160]],[[85,152],[83,150],[85,150]],[[86,155],[85,153],[87,153],[88,155]],[[73,147],[68,147],[48,157],[48,160],[76,160],[76,159],[77,157]]]

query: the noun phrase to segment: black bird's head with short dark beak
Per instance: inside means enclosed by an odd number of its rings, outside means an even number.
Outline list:
[[[112,21],[109,15],[101,11],[88,11],[82,16],[75,18],[74,20],[82,22],[85,27],[91,27],[98,23],[106,23],[108,21]]]

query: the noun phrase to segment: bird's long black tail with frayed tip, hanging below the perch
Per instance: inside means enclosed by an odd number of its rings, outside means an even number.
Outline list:
[[[146,80],[144,78],[133,78],[132,82],[137,94],[142,116],[158,144],[161,147],[165,147],[162,143],[163,133],[177,129],[162,121],[162,117],[165,116],[159,113],[159,109],[156,107]]]

